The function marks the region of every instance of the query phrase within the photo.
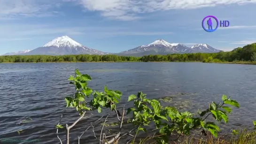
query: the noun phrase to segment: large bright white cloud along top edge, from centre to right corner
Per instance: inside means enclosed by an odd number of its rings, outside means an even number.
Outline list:
[[[227,4],[256,3],[256,0],[77,0],[86,10],[120,20],[139,18],[138,14],[170,9],[194,9]]]

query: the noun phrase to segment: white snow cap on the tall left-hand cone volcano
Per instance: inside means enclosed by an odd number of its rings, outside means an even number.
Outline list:
[[[78,42],[74,41],[72,38],[68,36],[54,38],[52,41],[48,42],[43,47],[50,47],[50,46],[59,47],[59,48],[60,47],[70,47],[70,48],[84,47],[83,45],[79,44]]]

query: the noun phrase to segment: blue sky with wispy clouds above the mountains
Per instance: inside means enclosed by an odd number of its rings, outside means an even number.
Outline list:
[[[110,53],[156,39],[230,51],[256,42],[255,8],[256,0],[0,0],[0,54],[63,35]],[[207,15],[230,26],[206,32]]]

